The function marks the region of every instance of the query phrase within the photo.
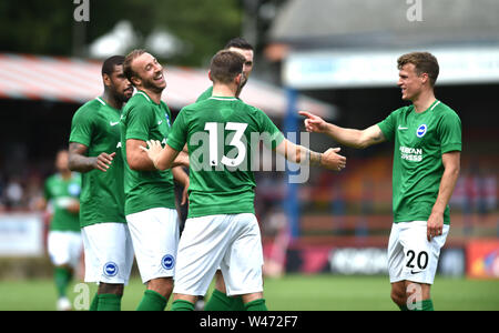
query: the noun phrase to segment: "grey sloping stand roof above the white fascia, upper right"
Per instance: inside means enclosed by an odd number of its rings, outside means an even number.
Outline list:
[[[498,43],[498,12],[497,0],[289,0],[269,41],[295,48]]]

